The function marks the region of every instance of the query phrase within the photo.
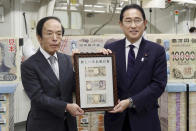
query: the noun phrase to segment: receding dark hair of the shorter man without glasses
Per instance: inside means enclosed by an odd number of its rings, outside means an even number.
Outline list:
[[[39,22],[37,23],[37,27],[36,27],[36,34],[37,35],[39,35],[40,37],[42,37],[42,29],[43,29],[44,23],[46,21],[50,20],[50,19],[57,20],[61,24],[60,19],[57,18],[57,17],[54,17],[54,16],[44,17],[41,20],[39,20]],[[61,24],[61,28],[62,28],[62,35],[64,35],[64,27],[63,27],[62,24]]]

